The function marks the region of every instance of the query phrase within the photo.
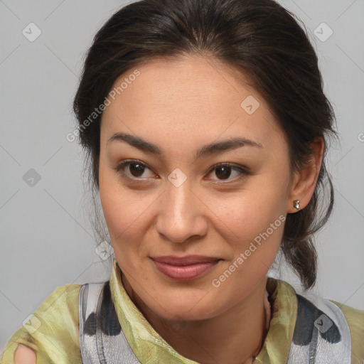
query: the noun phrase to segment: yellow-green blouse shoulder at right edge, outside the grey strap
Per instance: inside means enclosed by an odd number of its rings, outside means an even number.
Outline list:
[[[351,335],[351,363],[363,364],[364,363],[364,310],[354,309],[353,307],[346,306],[340,302],[333,301],[346,318]]]

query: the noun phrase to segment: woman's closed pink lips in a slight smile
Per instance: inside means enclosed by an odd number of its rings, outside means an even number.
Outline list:
[[[188,255],[186,257],[151,257],[156,268],[167,277],[177,281],[191,281],[212,269],[219,258]]]

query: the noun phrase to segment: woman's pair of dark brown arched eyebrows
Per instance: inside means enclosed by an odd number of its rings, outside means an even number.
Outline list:
[[[159,156],[163,155],[161,147],[135,135],[115,133],[114,135],[112,135],[111,138],[109,138],[109,140],[107,141],[107,145],[110,144],[112,141],[125,141],[127,142],[127,144],[134,146],[141,151],[147,151],[149,153]],[[218,151],[228,151],[240,148],[242,146],[255,146],[257,148],[264,148],[262,144],[257,143],[257,141],[252,141],[250,139],[242,137],[231,138],[223,141],[218,141],[216,143],[205,144],[196,152],[196,159],[210,156],[211,154],[215,154]]]

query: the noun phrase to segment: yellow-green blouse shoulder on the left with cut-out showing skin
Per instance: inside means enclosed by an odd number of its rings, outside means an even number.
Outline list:
[[[19,344],[33,349],[38,363],[81,363],[78,294],[81,284],[56,288],[6,343],[1,364],[13,364]]]

